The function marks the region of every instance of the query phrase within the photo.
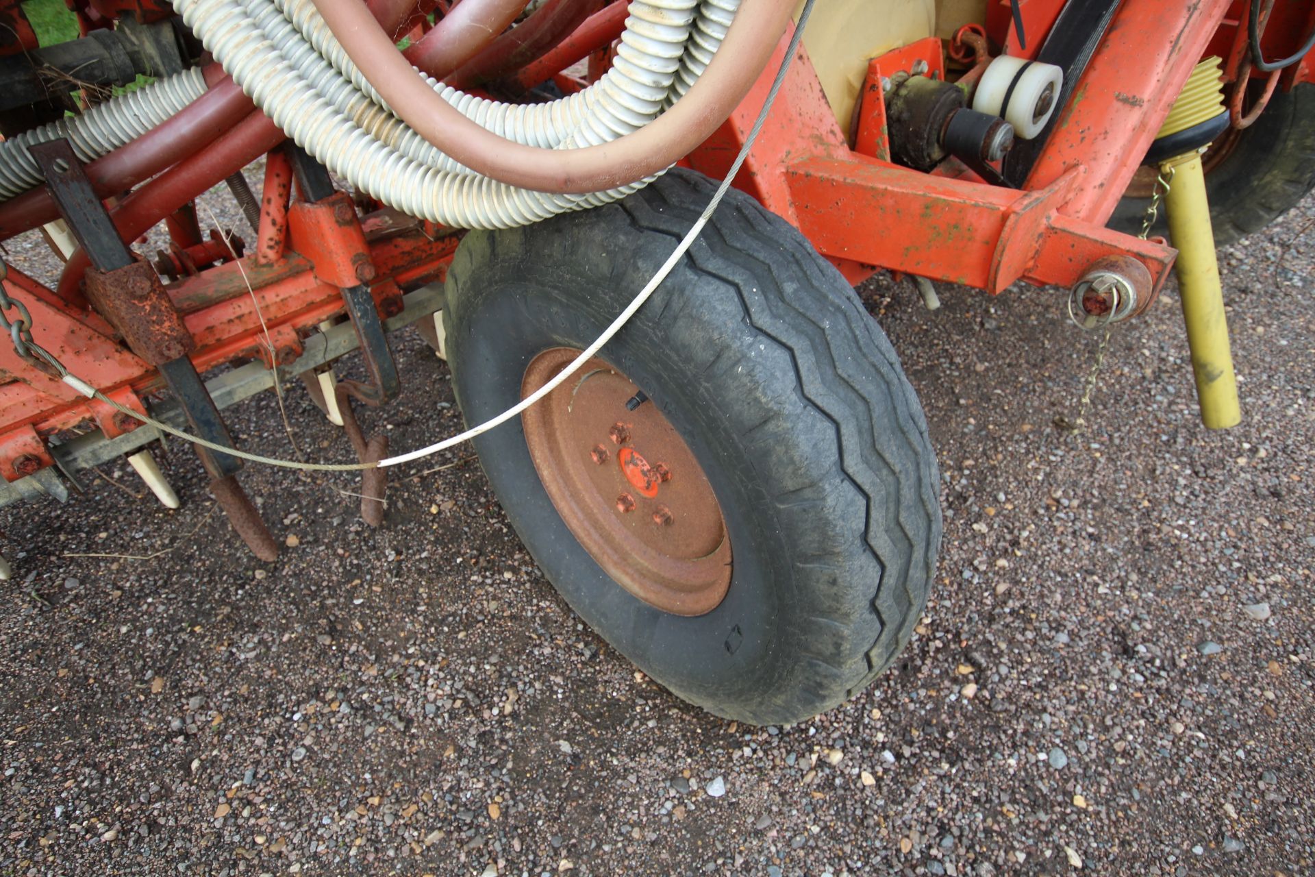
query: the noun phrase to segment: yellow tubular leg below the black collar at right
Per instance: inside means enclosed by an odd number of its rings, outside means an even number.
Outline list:
[[[1169,159],[1162,164],[1173,180],[1165,195],[1165,210],[1173,246],[1178,249],[1178,289],[1182,320],[1187,325],[1191,368],[1197,375],[1201,419],[1212,430],[1236,426],[1237,379],[1228,348],[1228,322],[1224,317],[1223,287],[1215,258],[1215,237],[1210,227],[1206,176],[1197,154]]]

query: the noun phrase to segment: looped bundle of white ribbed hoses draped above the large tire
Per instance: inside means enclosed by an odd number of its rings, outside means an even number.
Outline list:
[[[721,7],[726,0],[717,3]],[[343,83],[373,100],[352,83],[351,67],[331,36],[318,33],[318,13],[302,12],[296,0],[288,0],[285,8],[320,42],[318,51],[296,26],[287,33],[270,16],[252,14],[260,11],[256,0],[178,0],[175,8],[234,82],[299,145],[358,189],[404,213],[456,227],[510,227],[614,200],[642,184],[572,196],[530,192],[472,175],[433,147],[417,145],[414,135],[362,113],[364,105],[342,91]],[[560,109],[552,110],[483,101],[460,92],[451,92],[448,100],[485,128],[531,145],[558,138],[559,145],[597,145],[635,130],[671,100],[677,70],[682,64],[693,70],[688,55],[694,50],[689,36],[696,9],[693,0],[635,0],[630,12],[613,75],[600,80],[586,97],[564,99]],[[706,51],[702,42],[700,53]],[[334,78],[325,72],[325,66],[334,64],[312,59],[302,45],[316,55],[338,59],[341,68],[334,70]],[[581,108],[579,122],[572,118],[575,107]],[[362,129],[356,118],[397,146]],[[562,130],[559,120],[575,124]]]

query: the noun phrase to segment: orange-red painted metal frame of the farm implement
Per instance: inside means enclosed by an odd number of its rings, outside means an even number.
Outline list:
[[[372,5],[392,9],[397,4]],[[1023,3],[1027,50],[1022,54],[1038,50],[1061,5],[1061,0]],[[100,18],[103,9],[149,13],[155,7],[153,0],[97,0],[79,9]],[[1007,4],[993,3],[988,9],[989,36],[997,45],[1011,46]],[[918,60],[927,63],[930,74],[944,75],[939,39],[923,39],[871,62],[851,130],[836,124],[800,50],[735,184],[800,227],[855,283],[886,268],[990,293],[1018,280],[1070,287],[1099,259],[1122,255],[1145,266],[1157,289],[1176,252],[1162,241],[1110,231],[1105,221],[1195,62],[1218,53],[1227,59],[1230,75],[1237,75],[1237,22],[1244,14],[1243,0],[1126,0],[1022,189],[989,185],[956,162],[922,174],[889,160],[882,79],[913,70]],[[413,18],[405,17],[398,26],[416,26]],[[562,68],[585,58],[589,79],[597,78],[623,18],[623,4],[604,7],[555,47],[537,49],[542,58],[527,60],[508,82],[530,87],[554,79],[563,88],[576,88],[583,82],[563,75]],[[1315,3],[1277,4],[1265,33],[1266,51],[1273,57],[1290,53],[1311,25]],[[782,39],[768,72],[685,164],[711,176],[726,172],[767,97],[784,47]],[[1285,87],[1307,80],[1310,72],[1308,63],[1298,64],[1285,74]],[[231,130],[172,153],[156,138],[150,160],[133,158],[125,147],[92,166],[92,179],[108,187],[164,171],[114,208],[125,238],[185,210],[201,191],[281,139],[262,114],[243,118],[243,99],[231,84],[213,79],[224,93],[204,105],[214,110],[205,118],[210,124],[222,120]],[[153,164],[159,155],[172,167]],[[99,175],[101,167],[105,176]],[[149,168],[146,175],[143,168]],[[0,208],[0,233],[50,216],[49,199],[25,196],[9,209]],[[176,247],[199,245],[193,226],[187,213],[175,217]],[[235,358],[260,358],[274,367],[295,359],[304,337],[343,313],[342,287],[370,284],[380,312],[389,316],[401,306],[404,289],[442,279],[456,242],[450,230],[392,210],[359,217],[346,195],[318,204],[293,202],[292,168],[275,150],[267,155],[260,227],[249,252],[183,277],[167,292],[196,341],[191,358],[197,369]],[[76,256],[70,262],[58,292],[14,270],[5,287],[32,310],[38,343],[110,397],[145,410],[142,398],[160,389],[159,375],[87,309],[79,288],[84,264]],[[0,371],[9,377],[0,384],[0,475],[5,479],[49,465],[43,437],[53,433],[84,422],[107,435],[134,426],[20,359],[9,344],[0,344]]]

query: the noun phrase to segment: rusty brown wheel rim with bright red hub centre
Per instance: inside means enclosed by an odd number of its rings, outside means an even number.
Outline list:
[[[525,398],[579,350],[546,350],[525,369]],[[676,615],[702,615],[731,584],[731,546],[694,454],[640,388],[601,358],[521,415],[530,459],[562,519],[627,592]]]

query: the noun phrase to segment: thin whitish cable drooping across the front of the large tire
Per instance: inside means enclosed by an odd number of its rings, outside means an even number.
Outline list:
[[[430,456],[431,454],[438,454],[439,451],[444,451],[463,442],[468,442],[476,435],[488,433],[489,430],[496,429],[502,423],[508,422],[509,419],[512,419],[513,417],[517,417],[518,414],[523,413],[527,408],[542,400],[544,396],[547,396],[554,389],[565,383],[567,379],[569,379],[572,375],[580,371],[580,367],[584,366],[586,362],[589,362],[600,350],[602,350],[602,347],[609,341],[611,341],[627,322],[630,322],[630,318],[634,317],[640,308],[643,308],[644,302],[648,301],[648,298],[658,289],[658,287],[661,285],[661,281],[667,279],[667,275],[669,275],[672,270],[676,267],[676,263],[680,262],[680,259],[685,255],[685,252],[689,251],[689,247],[693,246],[694,241],[698,239],[698,234],[704,230],[704,226],[707,225],[707,220],[711,218],[713,213],[717,210],[717,205],[722,202],[722,199],[726,196],[727,189],[730,189],[731,180],[735,179],[735,175],[739,174],[740,167],[744,164],[744,159],[748,156],[750,150],[753,147],[753,142],[757,139],[759,131],[763,130],[763,124],[767,121],[768,113],[772,112],[772,105],[776,103],[776,96],[781,91],[781,83],[785,82],[785,74],[786,71],[789,71],[790,62],[794,59],[794,54],[798,51],[800,38],[803,34],[803,26],[809,20],[809,14],[813,12],[814,1],[815,0],[805,0],[803,3],[803,9],[802,12],[800,12],[800,20],[798,24],[796,25],[794,36],[790,37],[790,45],[785,50],[785,58],[781,59],[781,66],[777,68],[776,78],[772,80],[772,88],[768,89],[767,92],[767,100],[763,103],[763,108],[759,110],[757,118],[753,121],[753,128],[750,129],[748,135],[744,138],[744,146],[740,147],[740,151],[735,156],[735,160],[731,162],[730,170],[726,171],[726,176],[722,178],[722,181],[717,187],[717,191],[713,193],[713,197],[707,201],[707,206],[704,208],[704,212],[689,227],[689,231],[685,233],[685,237],[680,239],[680,243],[676,245],[676,249],[672,250],[667,260],[661,264],[660,268],[658,268],[658,272],[648,280],[647,284],[644,284],[644,288],[639,291],[639,293],[630,301],[630,304],[626,305],[626,309],[622,310],[621,314],[618,314],[617,318],[611,321],[611,325],[608,326],[608,329],[601,335],[598,335],[598,338],[594,339],[594,342],[589,344],[589,347],[584,352],[581,352],[579,356],[571,360],[571,364],[568,364],[564,369],[558,372],[552,377],[552,380],[540,387],[538,391],[535,391],[530,396],[526,396],[518,404],[506,409],[497,417],[484,421],[479,426],[472,426],[464,433],[443,439],[442,442],[435,442],[429,447],[422,447],[417,451],[410,451],[408,454],[398,454],[397,456],[387,458],[384,460],[380,460],[379,463],[302,463],[300,460],[283,460],[279,458],[264,456],[260,454],[251,454],[249,451],[238,451],[235,448],[230,448],[227,446],[218,444],[216,442],[209,442],[206,439],[197,438],[195,435],[184,433],[183,430],[172,427],[167,423],[162,423],[151,417],[147,417],[128,408],[126,405],[116,402],[114,400],[105,396],[103,392],[100,392],[87,381],[82,380],[76,375],[71,375],[59,363],[59,360],[50,358],[47,359],[47,362],[63,375],[64,383],[67,383],[78,392],[83,393],[87,397],[99,398],[110,408],[122,412],[124,414],[128,414],[129,417],[133,417],[143,423],[149,423],[150,426],[154,426],[158,430],[168,433],[170,435],[176,435],[178,438],[192,442],[195,444],[200,444],[201,447],[208,447],[213,451],[224,451],[225,454],[239,456],[243,460],[251,460],[252,463],[264,463],[268,465],[277,465],[287,469],[318,469],[329,472],[345,472],[345,471],[371,469],[375,468],[376,465],[377,467],[397,465],[398,463],[409,463],[412,460],[417,460],[423,456]],[[39,347],[36,347],[34,350],[42,358],[47,356],[45,350]]]

